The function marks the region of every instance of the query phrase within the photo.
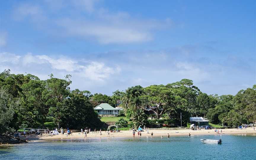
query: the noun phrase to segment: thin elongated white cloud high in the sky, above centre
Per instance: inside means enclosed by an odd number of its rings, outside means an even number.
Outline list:
[[[95,38],[103,44],[143,42],[152,39],[151,33],[129,26],[94,24],[92,22],[79,22],[75,20],[65,20],[59,23],[59,25],[64,27],[69,35]]]

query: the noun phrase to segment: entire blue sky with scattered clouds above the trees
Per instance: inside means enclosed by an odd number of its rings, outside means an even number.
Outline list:
[[[0,1],[0,71],[112,94],[191,79],[207,94],[256,84],[256,1]]]

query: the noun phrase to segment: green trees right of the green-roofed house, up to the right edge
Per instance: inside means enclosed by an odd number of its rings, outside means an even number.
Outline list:
[[[183,125],[191,116],[201,116],[211,123],[230,127],[256,123],[256,85],[240,90],[235,96],[218,96],[203,93],[192,80],[182,79],[167,85],[129,87],[122,100],[126,115],[133,118],[151,109],[157,119],[167,117],[176,125],[180,123],[180,113]]]

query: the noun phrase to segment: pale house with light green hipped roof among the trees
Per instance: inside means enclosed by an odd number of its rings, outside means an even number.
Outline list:
[[[108,116],[117,116],[120,110],[123,110],[121,107],[112,107],[108,103],[101,103],[94,107],[94,110],[98,112],[98,115],[101,117],[108,117]]]

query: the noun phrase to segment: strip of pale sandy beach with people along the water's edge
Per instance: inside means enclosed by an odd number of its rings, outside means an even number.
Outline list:
[[[153,136],[167,136],[167,133],[169,133],[170,136],[186,136],[189,133],[191,136],[193,135],[215,135],[216,133],[214,130],[191,130],[191,129],[181,129],[181,130],[149,130],[149,134],[144,131],[142,132],[142,137],[145,136],[151,136],[151,132],[153,132]],[[249,134],[249,135],[256,135],[256,131],[253,130],[253,128],[247,128],[247,129],[222,129],[223,135],[233,135],[233,134]],[[107,137],[107,132],[102,131],[102,135],[99,133],[88,133],[87,138],[100,138],[100,137]],[[123,138],[132,138],[132,131],[124,130],[119,133],[110,133],[110,137],[123,137]],[[135,138],[138,137],[137,132],[135,133]],[[70,135],[67,137],[64,135],[31,135],[29,139],[33,140],[51,140],[51,139],[71,139],[71,138],[84,138],[84,135],[81,135],[81,132],[75,132],[73,135]]]

